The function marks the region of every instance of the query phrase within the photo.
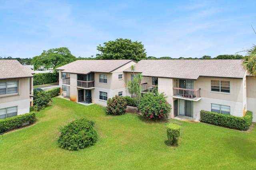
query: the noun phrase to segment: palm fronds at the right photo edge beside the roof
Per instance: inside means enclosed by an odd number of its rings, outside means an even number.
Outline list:
[[[252,48],[245,50],[247,55],[243,58],[242,66],[252,74],[256,76],[256,45],[253,45]]]

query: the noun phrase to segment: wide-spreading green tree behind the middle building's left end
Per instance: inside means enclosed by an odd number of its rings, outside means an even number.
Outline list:
[[[34,69],[40,66],[44,68],[57,68],[59,66],[76,61],[76,57],[72,55],[67,47],[44,50],[41,55],[35,56],[32,59]]]

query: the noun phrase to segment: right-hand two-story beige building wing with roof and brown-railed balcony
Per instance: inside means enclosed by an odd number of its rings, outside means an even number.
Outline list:
[[[135,72],[142,73],[142,93],[158,85],[172,105],[171,117],[200,119],[200,110],[242,117],[253,111],[256,122],[256,78],[247,76],[242,60],[142,60]],[[126,82],[132,79],[124,70]]]

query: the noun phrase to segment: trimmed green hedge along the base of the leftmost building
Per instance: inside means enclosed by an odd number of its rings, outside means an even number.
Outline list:
[[[34,122],[36,114],[34,112],[26,113],[24,115],[17,115],[8,117],[6,119],[0,119],[0,133],[9,131],[10,129],[18,128],[22,126],[22,123]]]

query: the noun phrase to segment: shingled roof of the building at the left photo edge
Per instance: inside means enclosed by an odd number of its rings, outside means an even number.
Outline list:
[[[33,70],[24,67],[18,60],[0,60],[0,79],[33,77]]]

